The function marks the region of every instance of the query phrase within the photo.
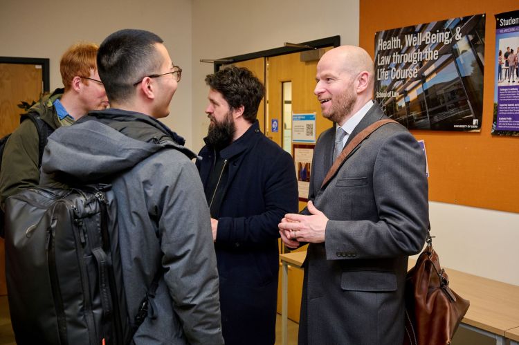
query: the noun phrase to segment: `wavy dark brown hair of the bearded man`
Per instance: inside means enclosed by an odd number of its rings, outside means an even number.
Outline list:
[[[217,73],[207,75],[206,84],[212,90],[221,93],[230,110],[244,106],[244,119],[248,122],[256,120],[265,88],[247,68],[230,66],[221,69]]]

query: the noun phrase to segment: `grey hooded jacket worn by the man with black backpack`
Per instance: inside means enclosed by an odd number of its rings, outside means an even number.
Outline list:
[[[210,214],[183,139],[141,113],[93,111],[48,138],[40,183],[109,181],[130,319],[159,266],[156,319],[136,344],[223,344]]]

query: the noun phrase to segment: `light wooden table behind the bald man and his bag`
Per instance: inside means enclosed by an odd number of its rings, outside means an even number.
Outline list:
[[[306,252],[281,254],[282,261],[282,344],[286,345],[288,265],[300,268]],[[408,268],[415,265],[409,259]],[[471,301],[471,306],[461,326],[495,339],[496,345],[504,345],[505,338],[519,345],[519,286],[502,283],[473,274],[445,268],[450,288]]]

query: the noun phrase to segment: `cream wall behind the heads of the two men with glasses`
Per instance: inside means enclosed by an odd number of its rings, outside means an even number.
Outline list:
[[[51,59],[52,91],[62,87],[60,58],[72,44],[100,44],[122,28],[155,32],[185,71],[163,121],[191,142],[191,8],[190,0],[0,0],[0,56]]]

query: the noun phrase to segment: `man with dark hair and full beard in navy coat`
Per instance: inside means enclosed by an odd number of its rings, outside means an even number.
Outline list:
[[[277,223],[297,212],[289,153],[256,120],[260,80],[231,66],[206,77],[210,125],[197,162],[211,212],[226,344],[274,344],[279,269]]]

